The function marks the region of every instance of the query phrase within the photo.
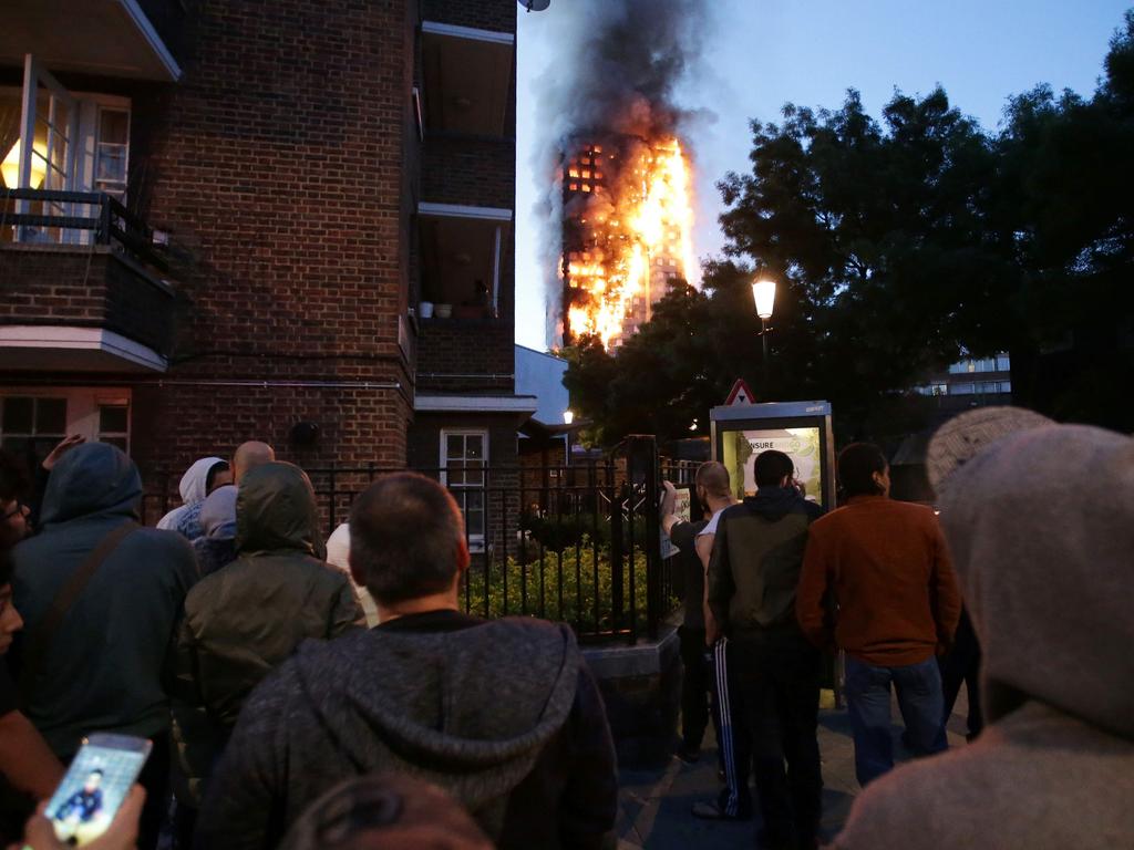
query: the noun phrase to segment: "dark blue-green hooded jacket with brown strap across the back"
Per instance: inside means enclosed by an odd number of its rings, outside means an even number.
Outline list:
[[[141,495],[137,467],[112,445],[87,443],[60,458],[44,494],[43,530],[12,550],[25,635],[102,538],[137,521]],[[151,528],[135,530],[99,567],[24,694],[27,716],[60,758],[87,732],[153,736],[169,728],[161,673],[195,580],[189,544]]]

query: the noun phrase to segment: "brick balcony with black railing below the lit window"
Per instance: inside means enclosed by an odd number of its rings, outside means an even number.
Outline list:
[[[104,193],[0,199],[0,369],[163,372],[174,290],[146,226]]]

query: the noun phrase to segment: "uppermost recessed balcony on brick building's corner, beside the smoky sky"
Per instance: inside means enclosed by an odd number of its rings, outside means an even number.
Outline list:
[[[503,136],[511,103],[511,33],[422,24],[425,129]],[[507,135],[511,135],[508,133]]]

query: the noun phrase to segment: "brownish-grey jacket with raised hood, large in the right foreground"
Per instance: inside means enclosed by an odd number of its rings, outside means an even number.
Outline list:
[[[947,481],[988,725],[872,783],[843,850],[1102,850],[1134,835],[1134,441],[1051,425]]]

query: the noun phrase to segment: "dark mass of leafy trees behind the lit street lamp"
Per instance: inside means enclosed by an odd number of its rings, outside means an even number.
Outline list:
[[[911,386],[1004,349],[1017,402],[1134,430],[1134,11],[1090,101],[1041,86],[1007,118],[985,134],[937,88],[877,121],[852,90],[753,121],[751,172],[718,184],[727,244],[703,291],[667,297],[616,355],[569,355],[595,436],[704,433],[738,376],[758,398],[829,399],[845,436],[916,430]],[[768,386],[758,271],[779,282]]]

